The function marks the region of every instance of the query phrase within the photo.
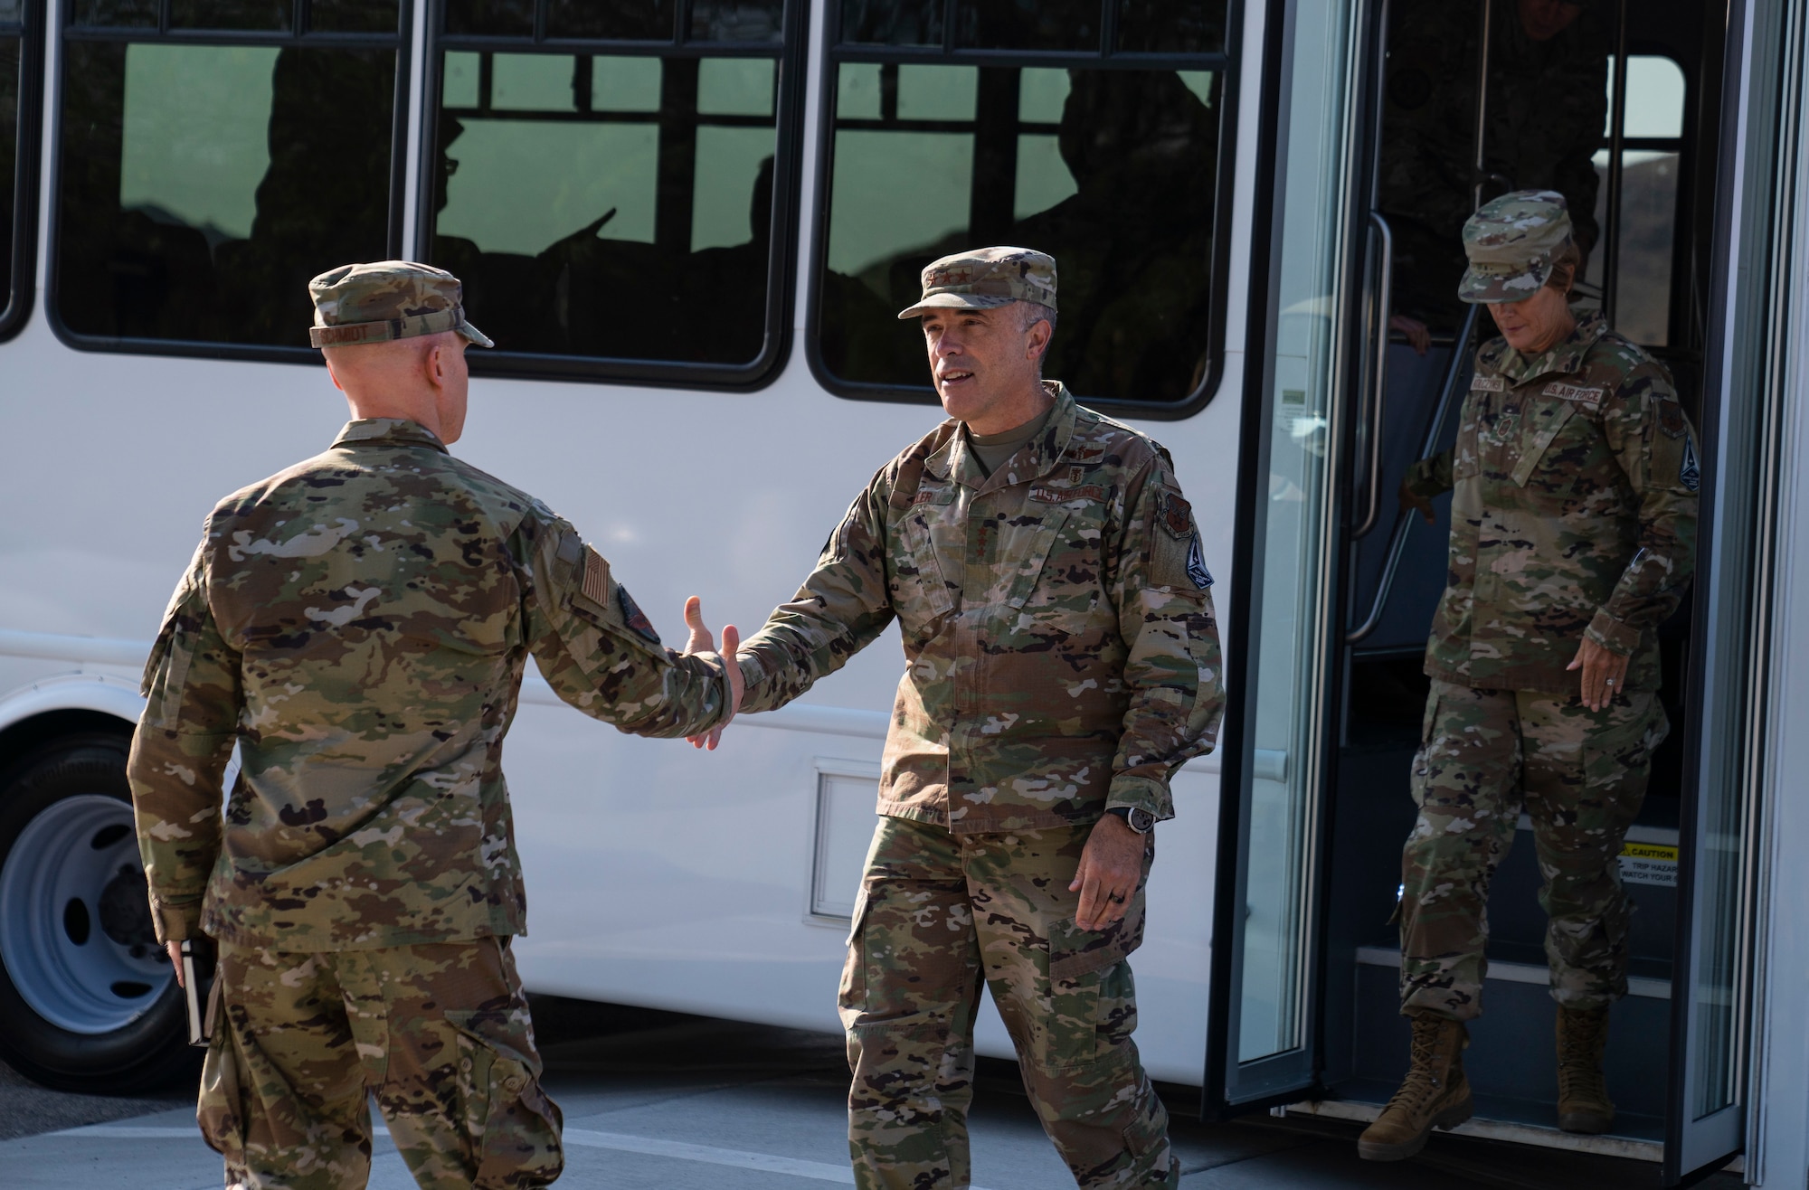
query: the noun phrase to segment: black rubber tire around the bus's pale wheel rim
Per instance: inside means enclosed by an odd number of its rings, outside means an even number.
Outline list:
[[[7,864],[14,859],[13,852],[20,836],[45,812],[52,812],[52,817],[43,821],[54,821],[76,805],[69,803],[63,810],[54,810],[60,803],[89,798],[85,805],[94,807],[99,803],[94,803],[92,798],[99,794],[125,803],[125,817],[119,821],[130,823],[132,794],[125,778],[128,747],[130,736],[123,732],[90,731],[62,736],[25,756],[0,778],[5,781],[0,787],[0,892],[18,888],[20,875],[25,872],[25,868],[16,868],[13,881],[7,881]],[[101,810],[105,812],[105,807]],[[116,841],[116,850],[123,848],[118,823],[107,830]],[[25,852],[18,859],[22,864],[43,863],[42,859],[33,861]],[[150,906],[145,904],[141,919],[136,915],[136,904],[123,897],[128,888],[123,875],[121,872],[114,879],[116,886],[109,886],[114,893],[114,917],[107,933],[134,930],[137,931],[132,935],[137,939],[134,944],[143,948],[143,930],[150,924]],[[139,872],[139,879],[143,879],[143,872]],[[118,924],[121,901],[125,901],[123,917],[128,919],[125,926]],[[7,902],[0,901],[0,904]],[[7,911],[14,915],[14,921],[9,922],[11,933],[0,931],[0,944],[13,937],[14,951],[25,946],[40,949],[49,946],[18,924],[24,915],[16,910],[16,901],[14,908]],[[87,915],[80,917],[81,935],[87,939]],[[22,935],[24,942],[20,942]],[[150,946],[156,948],[154,939]],[[0,949],[0,1058],[5,1058],[20,1074],[58,1091],[130,1094],[166,1085],[197,1071],[199,1051],[188,1045],[188,1011],[174,978],[156,998],[137,1006],[137,1015],[121,1027],[96,1025],[87,1031],[72,1031],[45,1020],[16,986],[14,971],[33,969],[29,964],[34,960],[38,955],[7,955]],[[38,995],[43,996],[42,986]],[[143,995],[148,996],[150,991]]]

